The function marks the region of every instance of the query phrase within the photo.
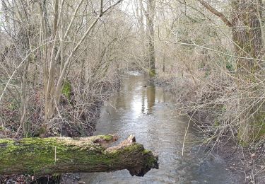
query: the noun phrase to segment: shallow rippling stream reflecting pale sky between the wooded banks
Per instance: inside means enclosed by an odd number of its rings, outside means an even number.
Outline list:
[[[82,173],[86,183],[234,183],[232,174],[218,156],[205,159],[198,151],[196,134],[189,128],[182,156],[182,142],[189,118],[179,116],[174,97],[148,81],[148,77],[130,71],[120,91],[104,103],[95,134],[117,134],[120,140],[129,134],[136,142],[158,154],[159,169],[144,177],[132,177],[129,171]],[[192,127],[192,126],[190,126]]]

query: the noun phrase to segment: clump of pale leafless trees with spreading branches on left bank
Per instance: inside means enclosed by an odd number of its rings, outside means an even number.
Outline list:
[[[13,95],[18,104],[13,108],[20,108],[20,125],[13,125],[13,130],[16,130],[17,135],[24,132],[27,136],[30,131],[32,134],[36,127],[31,119],[35,116],[39,118],[38,115],[42,115],[42,112],[43,119],[41,117],[37,122],[42,123],[40,132],[43,133],[55,126],[56,119],[65,122],[65,119],[71,117],[73,122],[83,122],[83,119],[87,121],[88,115],[83,114],[89,105],[81,108],[79,100],[90,104],[92,96],[96,94],[92,91],[98,88],[98,93],[101,93],[100,85],[106,81],[105,76],[112,69],[115,71],[111,73],[116,73],[117,62],[122,57],[119,56],[120,50],[117,47],[122,47],[120,42],[126,40],[127,35],[123,33],[126,30],[111,28],[109,31],[113,34],[110,36],[102,26],[105,23],[106,27],[112,16],[117,16],[110,11],[114,12],[115,6],[121,2],[122,0],[112,3],[92,0],[1,1],[5,15],[1,17],[5,22],[1,26],[1,37],[8,44],[4,45],[3,41],[4,49],[0,53],[1,72],[4,73],[1,80],[5,84],[1,90],[0,102],[8,103],[11,93],[5,92],[16,89]],[[109,14],[103,16],[105,13]],[[122,28],[125,29],[126,25]],[[115,31],[121,33],[117,34]],[[105,34],[104,38],[100,34]],[[94,40],[95,38],[98,40]],[[92,43],[93,46],[90,45]],[[98,47],[100,44],[102,47]],[[90,50],[94,50],[93,47],[98,47],[97,54],[89,54],[92,53]],[[81,66],[87,70],[81,70]],[[8,79],[4,76],[8,76]],[[73,82],[78,79],[77,76],[86,80],[81,81],[81,84]],[[90,88],[89,93],[86,88]],[[70,99],[70,94],[75,99]],[[64,100],[61,99],[62,96],[69,100],[71,115],[64,115],[66,109],[61,109],[61,100]],[[33,100],[33,97],[36,99]],[[40,108],[35,105],[40,105]],[[6,105],[1,107],[6,108]],[[1,110],[1,113],[5,112]],[[2,116],[8,117],[6,114]]]

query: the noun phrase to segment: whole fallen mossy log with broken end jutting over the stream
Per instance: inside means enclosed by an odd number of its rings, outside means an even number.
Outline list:
[[[110,146],[115,141],[116,135],[0,139],[0,175],[127,169],[131,176],[143,176],[151,168],[158,168],[158,157],[137,144],[134,135],[118,146]]]

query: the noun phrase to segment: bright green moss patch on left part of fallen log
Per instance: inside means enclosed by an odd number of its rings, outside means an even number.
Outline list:
[[[69,160],[69,163],[72,161],[91,164],[91,166],[102,161],[110,161],[98,156],[105,150],[104,148],[91,144],[82,146],[83,149],[80,149],[78,144],[65,144],[64,141],[60,142],[56,138],[27,138],[17,143],[19,146],[9,139],[1,139],[1,144],[7,144],[5,148],[0,148],[0,163],[4,168],[12,166],[13,163],[23,163],[28,173],[49,173],[49,167],[54,163],[64,163]],[[77,150],[78,156],[75,155]]]

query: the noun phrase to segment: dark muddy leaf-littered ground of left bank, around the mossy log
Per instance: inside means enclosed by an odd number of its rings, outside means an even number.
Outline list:
[[[92,93],[90,98],[90,103],[86,105],[86,112],[82,118],[83,122],[78,125],[76,122],[68,123],[66,119],[61,118],[54,119],[54,125],[49,129],[49,137],[63,136],[63,137],[88,137],[92,136],[95,132],[95,125],[100,117],[100,108],[102,104],[109,100],[112,95],[119,89],[122,82],[122,74],[114,77],[113,79],[108,79],[106,81],[101,81],[98,83],[95,91],[98,93]],[[71,92],[71,96],[74,96],[74,92]],[[66,98],[62,97],[61,104],[59,105],[60,110],[64,110],[66,113],[71,113],[74,108],[73,103],[66,102]],[[64,115],[65,115],[64,112]],[[64,123],[63,123],[64,122]],[[7,126],[8,127],[8,126]],[[9,129],[0,127],[0,138],[14,138],[16,137],[16,132]],[[0,183],[60,183],[61,178],[73,178],[73,180],[78,183],[78,174],[63,174],[62,176],[55,174],[54,176],[42,176],[36,178],[30,175],[11,175],[11,176],[0,176]],[[67,180],[67,182],[70,180]]]

